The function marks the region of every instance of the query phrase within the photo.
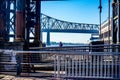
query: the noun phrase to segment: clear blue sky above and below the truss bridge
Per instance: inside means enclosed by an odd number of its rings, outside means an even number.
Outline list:
[[[99,24],[99,0],[42,1],[41,12],[53,18],[88,24]],[[102,0],[102,22],[108,18],[108,0]],[[50,33],[50,41],[88,43],[90,34]],[[46,42],[46,33],[42,34]]]

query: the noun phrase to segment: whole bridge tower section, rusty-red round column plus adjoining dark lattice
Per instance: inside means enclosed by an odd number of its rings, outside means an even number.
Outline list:
[[[40,4],[40,0],[16,0],[15,41],[30,44],[32,40],[35,46],[42,43],[40,40]]]

